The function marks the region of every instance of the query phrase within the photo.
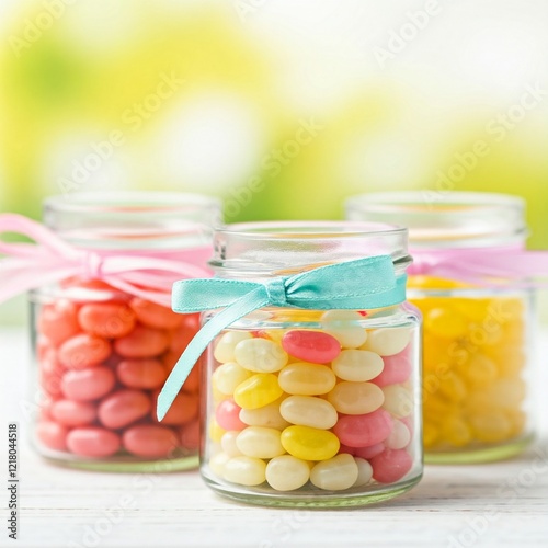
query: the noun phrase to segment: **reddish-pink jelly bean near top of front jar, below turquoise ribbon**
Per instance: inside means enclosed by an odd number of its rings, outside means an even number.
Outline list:
[[[328,364],[341,353],[341,343],[321,331],[288,331],[282,338],[282,347],[287,354],[312,364]]]

